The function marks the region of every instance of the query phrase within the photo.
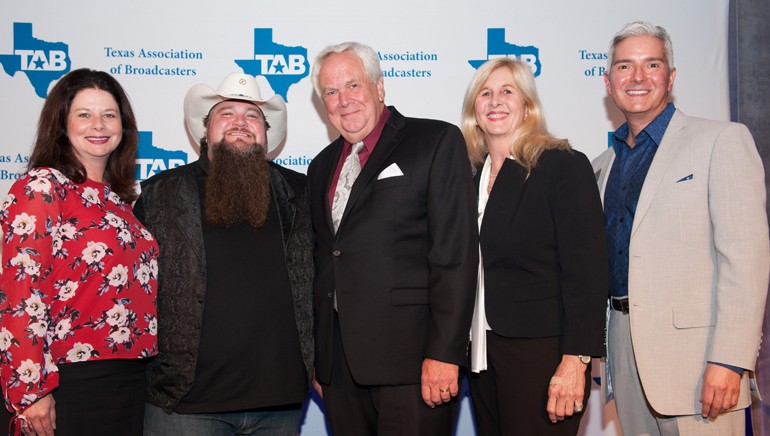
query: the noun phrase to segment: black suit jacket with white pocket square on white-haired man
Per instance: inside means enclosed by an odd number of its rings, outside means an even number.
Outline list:
[[[327,193],[342,138],[308,168],[316,377],[323,383],[331,376],[335,290],[345,356],[358,383],[420,383],[426,357],[466,362],[478,231],[465,144],[451,124],[390,111],[336,235]],[[394,163],[403,175],[377,180]]]

